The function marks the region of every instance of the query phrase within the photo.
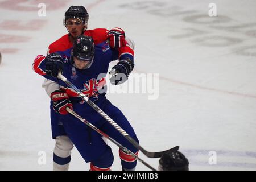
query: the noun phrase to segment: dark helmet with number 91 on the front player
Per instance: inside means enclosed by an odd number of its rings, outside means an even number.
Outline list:
[[[80,35],[73,43],[71,63],[74,65],[73,57],[80,61],[89,61],[86,68],[89,68],[94,59],[94,43],[90,36]],[[85,68],[85,69],[86,69]]]

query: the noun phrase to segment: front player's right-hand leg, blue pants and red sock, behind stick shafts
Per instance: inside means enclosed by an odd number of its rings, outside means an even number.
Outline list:
[[[108,107],[106,107],[105,111],[106,111],[106,114],[108,114],[120,127],[122,127],[122,129],[124,129],[134,140],[136,140],[139,143],[139,140],[133,130],[133,127],[131,127],[125,115],[123,115],[122,112],[117,107],[113,106],[112,104],[108,104]],[[104,120],[102,120],[102,122],[104,122],[104,125],[100,127],[102,131],[104,131],[106,134],[108,134],[118,143],[122,144],[122,146],[125,146],[134,154],[138,155],[137,148],[135,148],[133,144],[131,144],[125,137],[122,137],[119,131],[117,131],[108,122]],[[137,159],[134,158],[134,156],[126,154],[124,151],[119,149],[119,157],[121,159],[123,170],[125,171],[135,170],[135,167],[137,165]]]

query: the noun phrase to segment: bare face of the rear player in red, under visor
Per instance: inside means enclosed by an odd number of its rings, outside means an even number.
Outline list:
[[[69,18],[67,20],[67,28],[73,38],[77,38],[85,29],[85,24],[78,18]]]

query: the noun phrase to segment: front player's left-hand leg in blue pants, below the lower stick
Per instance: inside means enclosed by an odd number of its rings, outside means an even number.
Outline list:
[[[68,121],[63,122],[64,129],[85,162],[91,162],[90,169],[109,170],[114,156],[102,136],[76,118],[69,115],[66,117]]]

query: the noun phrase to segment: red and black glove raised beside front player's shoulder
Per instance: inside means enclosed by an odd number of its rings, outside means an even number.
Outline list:
[[[109,41],[109,46],[112,49],[118,49],[120,47],[126,46],[125,31],[121,28],[112,28],[107,35],[107,40]]]

